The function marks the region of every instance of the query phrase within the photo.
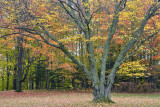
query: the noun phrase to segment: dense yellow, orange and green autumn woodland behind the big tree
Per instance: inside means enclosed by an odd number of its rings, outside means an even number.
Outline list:
[[[42,23],[51,34],[56,35],[57,39],[64,43],[77,59],[89,68],[85,45],[88,41],[56,0],[26,0],[26,4],[21,4],[21,6],[17,6],[18,0],[2,0],[0,3],[0,9],[2,10],[0,13],[0,89],[2,91],[16,90],[17,77],[22,78],[23,90],[91,89],[91,81],[89,81],[85,72],[61,50],[45,44],[37,35],[30,34],[32,38],[29,38],[28,33],[24,35],[13,34],[13,31],[23,32],[15,29],[19,26],[32,26],[35,29],[39,29],[37,24]],[[117,31],[111,42],[106,74],[111,71],[115,59],[124,44],[132,39],[132,34],[137,30],[137,26],[140,25],[144,13],[151,3],[152,0],[130,0],[127,2],[126,8],[120,13]],[[98,72],[100,72],[101,68],[101,59],[99,57],[102,56],[108,27],[113,20],[113,4],[114,1],[112,0],[90,0],[92,7],[90,11],[93,12],[91,26],[93,36],[91,40],[94,42]],[[22,18],[18,16],[19,12],[25,13]],[[157,15],[147,22],[143,36],[148,36],[159,28],[160,16]],[[12,35],[4,36],[8,33]],[[28,37],[25,35],[28,35]],[[157,33],[153,38],[145,42],[134,56],[127,59],[119,67],[112,87],[113,91],[159,91],[159,35]],[[54,41],[49,41],[54,44]],[[132,53],[132,51],[130,50],[129,53]],[[17,71],[20,68],[22,72],[18,74]]]

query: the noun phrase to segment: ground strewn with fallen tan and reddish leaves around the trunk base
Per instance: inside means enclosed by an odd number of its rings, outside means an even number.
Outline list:
[[[114,104],[92,103],[92,93],[72,91],[0,91],[0,107],[160,107],[160,93],[112,93]]]

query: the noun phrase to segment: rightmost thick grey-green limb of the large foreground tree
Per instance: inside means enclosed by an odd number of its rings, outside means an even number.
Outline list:
[[[131,39],[122,49],[122,51],[120,52],[120,54],[118,55],[118,58],[116,59],[116,62],[113,66],[113,69],[111,71],[111,73],[109,74],[109,78],[107,80],[108,81],[114,81],[114,78],[115,78],[115,75],[116,75],[116,71],[118,69],[118,67],[121,65],[121,61],[124,59],[125,60],[125,56],[126,56],[126,53],[133,47],[133,45],[138,41],[138,37],[141,36],[141,34],[143,33],[143,30],[144,30],[144,27],[147,23],[147,21],[154,16],[154,14],[156,13],[156,11],[158,10],[159,8],[159,4],[156,5],[155,3],[151,5],[151,7],[148,9],[146,15],[145,15],[145,18],[144,20],[142,20],[142,24],[140,26],[140,28],[137,30],[135,36],[133,39]],[[152,35],[151,35],[152,36]],[[146,39],[149,39],[149,37],[147,37]],[[142,42],[143,43],[143,42]],[[141,43],[140,43],[141,45]],[[133,54],[133,53],[132,53]],[[126,57],[127,58],[127,57]]]

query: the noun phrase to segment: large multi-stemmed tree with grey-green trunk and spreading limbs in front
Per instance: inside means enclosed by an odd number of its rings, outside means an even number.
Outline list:
[[[45,0],[42,0],[42,1],[45,1]],[[16,31],[16,33],[14,32],[12,34],[23,33],[24,36],[34,38],[38,41],[44,42],[52,47],[58,48],[61,51],[63,51],[68,56],[68,58],[72,60],[73,63],[77,64],[80,68],[82,68],[85,71],[86,75],[91,80],[92,87],[93,87],[93,96],[94,96],[93,101],[111,103],[113,102],[110,96],[111,87],[114,83],[116,72],[119,66],[123,62],[125,62],[130,56],[133,56],[138,50],[138,48],[146,40],[148,40],[149,38],[152,38],[155,34],[159,32],[159,29],[155,29],[154,32],[152,32],[152,34],[150,34],[149,36],[143,36],[143,31],[147,24],[147,21],[152,17],[160,14],[159,13],[160,3],[157,0],[153,0],[152,4],[148,7],[146,11],[144,18],[141,20],[140,25],[137,26],[136,30],[132,33],[132,38],[128,40],[128,42],[123,46],[118,57],[116,58],[116,61],[114,63],[112,70],[110,71],[109,75],[106,77],[106,62],[109,57],[109,48],[113,40],[113,36],[117,30],[119,15],[121,11],[125,10],[127,3],[130,1],[129,0],[128,1],[127,0],[108,0],[107,1],[108,6],[110,4],[114,5],[112,7],[113,19],[110,21],[108,33],[107,33],[108,34],[107,39],[103,46],[100,75],[98,74],[97,67],[96,67],[94,44],[91,38],[92,38],[92,33],[94,32],[94,29],[92,28],[93,16],[98,11],[102,11],[103,9],[101,7],[101,4],[99,4],[97,6],[98,8],[95,11],[91,11],[92,10],[91,2],[94,2],[94,1],[92,0],[81,0],[81,1],[80,0],[57,0],[57,1],[51,0],[51,3],[60,5],[61,8],[67,13],[67,15],[70,16],[70,20],[72,21],[72,23],[76,24],[77,27],[79,27],[79,29],[83,32],[83,35],[84,35],[83,38],[85,38],[86,40],[85,43],[86,43],[86,49],[87,49],[86,51],[87,51],[88,61],[89,61],[89,68],[85,64],[80,62],[74,56],[74,54],[71,53],[68,50],[68,48],[58,39],[57,37],[58,33],[54,34],[49,32],[50,31],[49,27],[47,27],[45,23],[36,22],[36,24],[30,25],[28,24],[29,22],[28,21],[26,26],[14,26],[14,28],[12,27],[12,29],[16,29],[16,30],[18,29],[21,31],[21,32]],[[102,0],[101,3],[103,2],[104,1]],[[107,9],[110,9],[110,8],[111,6]],[[38,17],[36,16],[36,14],[32,15],[31,13],[29,12],[28,14],[28,17],[29,17],[28,20],[38,20]],[[109,10],[108,10],[108,13],[109,13]],[[109,22],[106,22],[106,23],[109,23]],[[40,38],[37,38],[34,35],[39,35]],[[7,34],[5,34],[4,36],[7,36]],[[130,50],[132,50],[131,54],[128,53]]]

